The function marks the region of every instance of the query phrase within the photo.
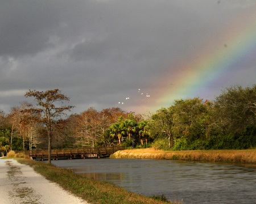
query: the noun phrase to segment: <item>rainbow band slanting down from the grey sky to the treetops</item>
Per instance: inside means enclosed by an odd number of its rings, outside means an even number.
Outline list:
[[[174,100],[197,97],[207,92],[212,84],[218,83],[222,75],[238,69],[240,63],[247,58],[256,56],[255,8],[243,15],[240,22],[236,19],[236,22],[230,24],[229,29],[224,29],[221,39],[211,39],[206,44],[201,52],[194,54],[195,62],[191,60],[180,63],[175,67],[178,70],[175,76],[172,71],[163,76],[159,83],[161,88],[151,93],[154,100],[139,107],[140,111],[142,108],[144,112],[156,111],[162,107],[170,107]]]

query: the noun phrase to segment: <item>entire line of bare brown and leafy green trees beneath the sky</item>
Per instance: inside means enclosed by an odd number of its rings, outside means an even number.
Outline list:
[[[36,104],[0,111],[0,151],[127,146],[171,150],[245,149],[256,146],[256,84],[226,88],[213,101],[175,100],[150,116],[120,108],[73,108],[60,90],[29,90]],[[64,117],[63,117],[64,116]]]

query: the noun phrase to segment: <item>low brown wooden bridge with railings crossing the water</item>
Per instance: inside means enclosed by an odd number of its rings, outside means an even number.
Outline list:
[[[65,148],[51,150],[51,159],[72,159],[72,158],[100,158],[105,157],[118,150],[126,150],[126,147],[93,147],[93,148]],[[27,150],[22,151],[33,159],[44,160],[48,158],[48,150]]]

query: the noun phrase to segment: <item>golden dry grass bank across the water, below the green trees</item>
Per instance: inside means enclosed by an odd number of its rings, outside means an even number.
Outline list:
[[[205,162],[226,162],[256,164],[256,150],[191,150],[163,151],[154,148],[122,150],[115,152],[112,158],[130,159],[168,159]]]

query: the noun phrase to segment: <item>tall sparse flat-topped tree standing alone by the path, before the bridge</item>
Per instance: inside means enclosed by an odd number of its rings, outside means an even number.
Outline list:
[[[63,101],[69,101],[69,97],[61,94],[59,89],[48,91],[29,90],[24,96],[34,97],[38,105],[38,108],[31,108],[31,110],[41,113],[41,120],[46,126],[48,135],[48,163],[51,163],[51,133],[53,124],[61,115],[65,114],[64,111],[69,111],[73,106],[62,105],[60,107],[56,107],[59,102],[63,103]]]

